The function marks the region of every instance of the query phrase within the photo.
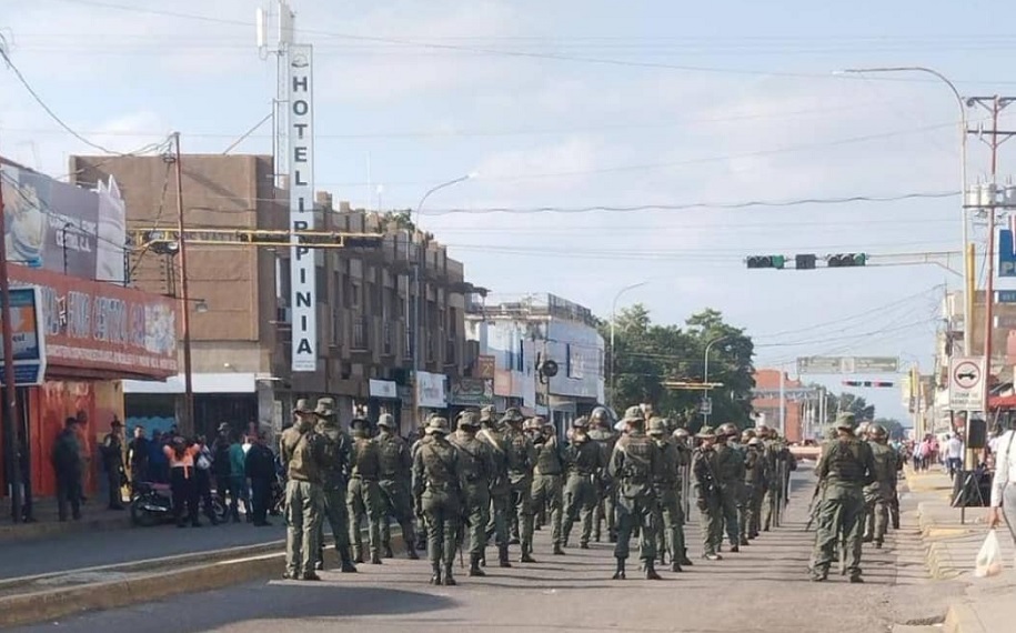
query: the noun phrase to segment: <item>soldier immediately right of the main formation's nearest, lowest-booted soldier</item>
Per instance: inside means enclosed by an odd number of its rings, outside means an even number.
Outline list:
[[[486,575],[480,569],[480,560],[486,546],[486,525],[491,519],[490,485],[494,472],[491,449],[476,438],[479,430],[476,414],[466,411],[459,415],[459,430],[451,439],[452,444],[459,449],[464,505],[462,515],[469,519],[471,576]]]

